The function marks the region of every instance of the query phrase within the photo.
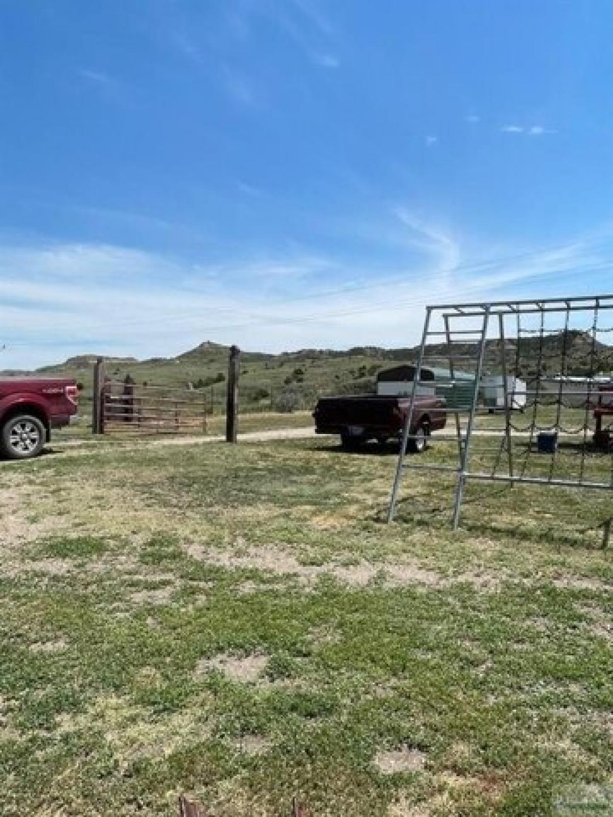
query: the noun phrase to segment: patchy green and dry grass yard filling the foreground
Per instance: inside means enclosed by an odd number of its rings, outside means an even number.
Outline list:
[[[471,484],[453,534],[451,481],[411,474],[387,526],[395,463],[61,438],[0,463],[0,813],[550,815],[611,784],[611,493]]]

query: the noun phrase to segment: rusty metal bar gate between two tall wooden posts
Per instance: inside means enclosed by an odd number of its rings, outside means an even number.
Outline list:
[[[106,380],[100,390],[100,433],[206,434],[209,405],[194,389]]]

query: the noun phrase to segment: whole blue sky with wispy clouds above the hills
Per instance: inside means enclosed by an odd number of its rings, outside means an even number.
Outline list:
[[[0,0],[0,367],[610,292],[609,0]]]

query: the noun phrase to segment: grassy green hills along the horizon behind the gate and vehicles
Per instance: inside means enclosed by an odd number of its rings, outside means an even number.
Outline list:
[[[565,348],[566,346],[566,348]],[[474,359],[474,343],[454,346],[459,357]],[[596,368],[610,372],[613,369],[613,346],[597,342],[594,346]],[[106,359],[106,373],[113,379],[127,374],[136,382],[163,386],[186,387],[189,384],[206,391],[213,404],[221,406],[225,394],[227,360],[230,348],[218,343],[204,342],[194,349],[171,358]],[[428,365],[444,365],[444,344],[427,347]],[[439,359],[436,359],[436,356]],[[356,394],[374,391],[379,370],[393,364],[417,359],[418,347],[385,349],[378,346],[354,346],[347,350],[302,349],[278,355],[257,351],[241,354],[242,402],[253,408],[275,408],[276,401],[289,394],[293,404],[309,408],[318,395]],[[57,373],[74,377],[83,384],[84,395],[91,394],[92,369],[97,355],[77,355],[55,366],[38,369],[40,373]],[[522,338],[519,355],[517,342],[507,342],[507,361],[510,372],[530,379],[542,372],[562,373],[566,358],[566,374],[582,375],[591,370],[592,338],[588,333],[573,331],[548,334],[542,339],[535,335]],[[540,361],[540,364],[539,364]],[[471,360],[459,362],[456,368],[474,368]],[[498,341],[487,343],[485,371],[499,373],[500,346]]]

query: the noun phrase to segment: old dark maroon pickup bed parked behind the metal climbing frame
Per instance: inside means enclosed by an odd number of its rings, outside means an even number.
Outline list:
[[[313,413],[315,433],[340,434],[342,447],[347,450],[355,451],[368,440],[383,445],[391,437],[400,438],[410,405],[410,397],[322,397]],[[416,397],[407,451],[422,453],[432,431],[445,428],[445,422],[445,400]]]

